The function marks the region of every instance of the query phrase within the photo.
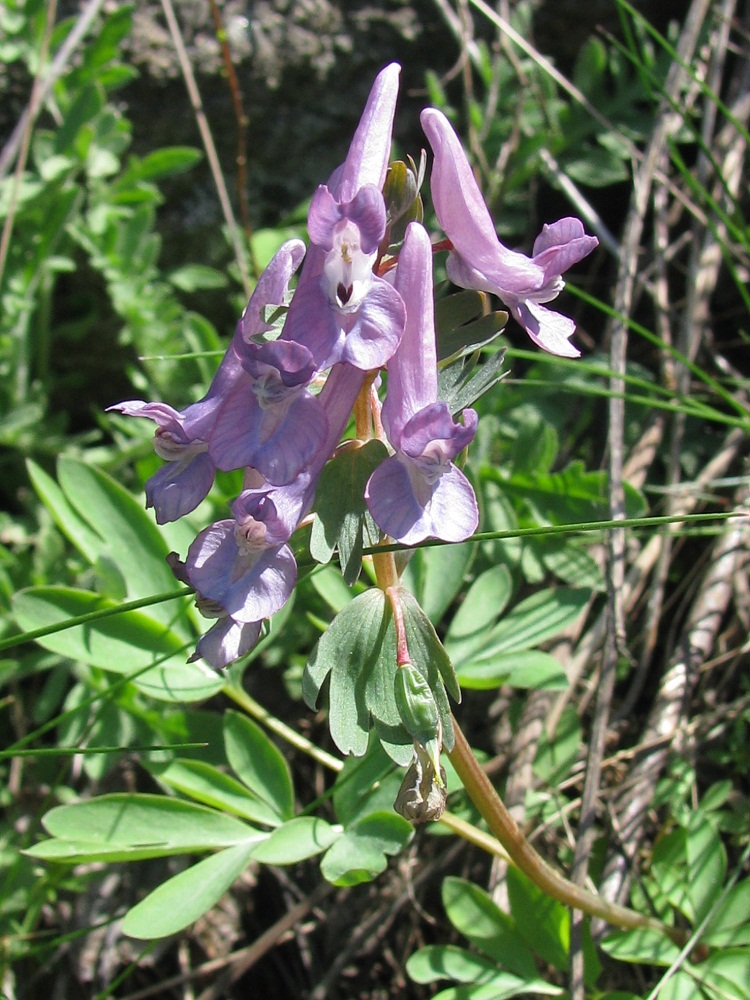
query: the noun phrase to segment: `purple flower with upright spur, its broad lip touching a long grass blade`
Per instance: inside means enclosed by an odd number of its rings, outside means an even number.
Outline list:
[[[474,438],[477,415],[464,410],[458,423],[437,398],[432,248],[419,223],[406,231],[395,283],[406,303],[406,329],[388,362],[383,425],[396,453],[370,476],[365,499],[378,527],[397,541],[460,542],[476,530],[479,514],[471,483],[453,459]]]

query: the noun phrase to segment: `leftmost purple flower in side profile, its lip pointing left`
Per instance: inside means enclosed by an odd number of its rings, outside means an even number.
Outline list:
[[[155,509],[159,524],[175,521],[194,510],[211,489],[215,460],[209,442],[217,414],[245,377],[243,347],[252,335],[268,329],[264,311],[269,305],[283,302],[289,280],[304,253],[305,245],[301,240],[289,240],[277,251],[260,276],[232,343],[203,399],[184,410],[142,400],[128,400],[108,407],[125,416],[147,417],[157,424],[154,448],[168,464],[146,483],[146,504]]]

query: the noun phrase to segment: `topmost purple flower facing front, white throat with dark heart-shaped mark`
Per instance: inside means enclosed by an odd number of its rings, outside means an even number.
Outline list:
[[[379,368],[403,332],[398,292],[373,273],[386,229],[381,189],[398,75],[395,63],[378,75],[346,160],[310,205],[311,246],[282,336],[308,347],[318,369],[337,362]]]

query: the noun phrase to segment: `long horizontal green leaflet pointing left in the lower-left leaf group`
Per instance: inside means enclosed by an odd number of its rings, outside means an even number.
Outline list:
[[[233,816],[163,795],[102,795],[57,806],[43,822],[56,839],[28,853],[69,862],[194,854],[265,837]]]

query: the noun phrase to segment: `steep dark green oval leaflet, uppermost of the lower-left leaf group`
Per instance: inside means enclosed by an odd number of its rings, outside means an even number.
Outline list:
[[[281,820],[294,815],[289,765],[263,730],[246,715],[224,716],[224,746],[235,774]]]

